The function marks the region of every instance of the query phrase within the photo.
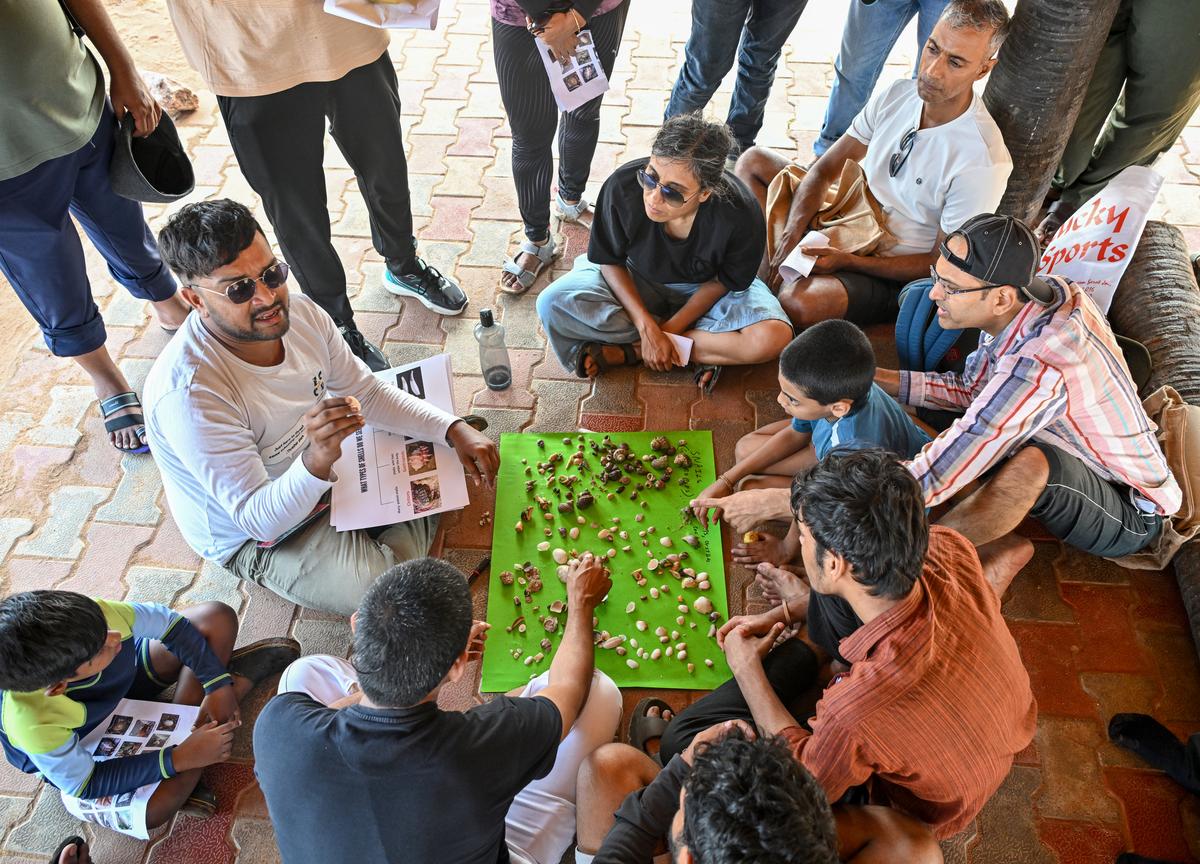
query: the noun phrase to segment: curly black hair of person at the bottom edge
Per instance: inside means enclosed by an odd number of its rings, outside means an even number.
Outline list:
[[[733,730],[700,748],[684,782],[683,842],[696,864],[836,864],[824,790],[775,738]]]

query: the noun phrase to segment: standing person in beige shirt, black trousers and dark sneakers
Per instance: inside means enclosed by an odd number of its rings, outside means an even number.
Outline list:
[[[288,266],[350,350],[373,371],[390,365],[354,324],[330,240],[326,119],[366,200],[371,240],[386,260],[384,288],[439,314],[462,312],[467,295],[416,254],[388,31],[328,14],[312,0],[167,7],[188,62],[217,95],[238,166],[262,197]]]

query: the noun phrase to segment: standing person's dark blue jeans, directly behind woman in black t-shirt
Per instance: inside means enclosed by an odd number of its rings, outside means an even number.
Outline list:
[[[737,56],[738,79],[725,121],[737,139],[738,152],[754,146],[755,137],[762,128],[762,115],[784,42],[800,19],[806,2],[692,0],[691,36],[684,48],[683,67],[671,91],[664,120],[702,110]]]

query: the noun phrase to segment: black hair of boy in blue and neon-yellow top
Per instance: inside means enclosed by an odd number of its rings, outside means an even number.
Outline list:
[[[32,590],[0,601],[0,690],[32,692],[71,678],[104,647],[100,604],[74,592]]]

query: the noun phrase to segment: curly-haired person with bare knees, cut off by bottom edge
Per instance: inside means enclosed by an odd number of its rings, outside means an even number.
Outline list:
[[[660,768],[605,744],[580,769],[576,864],[941,864],[934,835],[886,806],[839,805],[780,739],[704,730]],[[590,853],[589,850],[596,850]]]

